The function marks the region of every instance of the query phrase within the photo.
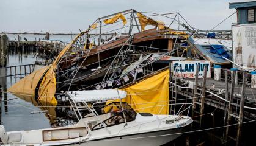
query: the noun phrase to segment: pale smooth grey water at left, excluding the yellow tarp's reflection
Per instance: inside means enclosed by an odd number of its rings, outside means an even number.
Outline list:
[[[33,58],[33,55],[27,55],[27,57],[10,55],[9,57],[9,63],[7,66],[32,64],[34,61],[42,61],[42,59]],[[20,79],[13,76],[1,78],[1,80],[4,82],[3,88],[9,88],[13,83]],[[26,101],[10,94],[9,92],[4,92],[4,100],[1,102],[1,124],[4,125],[7,131],[32,130],[51,127],[48,117],[45,114],[31,114],[31,111],[40,111],[41,109],[31,102],[27,102],[29,99]],[[6,100],[9,101],[6,102]],[[24,106],[26,106],[26,108]]]

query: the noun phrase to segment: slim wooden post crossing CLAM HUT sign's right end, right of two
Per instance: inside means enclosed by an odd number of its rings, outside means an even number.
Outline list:
[[[200,128],[202,126],[202,114],[205,110],[205,89],[206,89],[206,80],[207,80],[207,66],[205,65],[205,68],[203,69],[203,89],[201,94],[201,108],[200,108]]]

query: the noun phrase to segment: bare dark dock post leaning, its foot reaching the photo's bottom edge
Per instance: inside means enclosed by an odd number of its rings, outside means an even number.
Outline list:
[[[244,113],[244,88],[246,86],[246,79],[247,75],[246,72],[243,72],[243,85],[241,91],[241,99],[240,99],[240,110],[239,110],[239,117],[238,117],[238,128],[237,128],[237,136],[236,136],[236,146],[239,145],[239,140],[241,136],[241,123],[243,122],[243,113]]]

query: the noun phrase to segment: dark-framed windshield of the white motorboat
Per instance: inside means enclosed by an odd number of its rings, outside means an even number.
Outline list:
[[[103,120],[102,122],[106,127],[111,127],[113,125],[125,123],[125,119],[126,119],[126,122],[131,122],[135,120],[137,113],[131,108],[131,106],[129,106],[127,103],[122,103],[122,106],[123,106],[123,112],[122,112],[122,107],[120,105],[120,102],[113,102],[109,105],[106,105],[106,107],[104,107],[104,111],[106,113],[111,114],[111,116],[108,119]],[[125,118],[123,117],[123,113],[125,114]],[[98,123],[92,128],[92,130],[98,130],[100,128],[104,128],[104,127],[101,123]]]

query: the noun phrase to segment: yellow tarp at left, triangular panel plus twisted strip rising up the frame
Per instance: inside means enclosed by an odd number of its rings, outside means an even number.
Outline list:
[[[59,63],[60,59],[72,49],[72,45],[75,44],[76,40],[88,31],[89,30],[79,33],[79,35],[77,35],[76,38],[59,53],[53,64],[32,72],[32,74],[27,75],[27,77],[24,77],[11,86],[8,91],[20,96],[35,96],[35,88],[40,79],[43,78],[39,85],[38,100],[40,100],[40,102],[49,102],[51,105],[57,105],[57,100],[54,97],[56,92],[56,78],[54,71],[56,71],[57,63]]]

